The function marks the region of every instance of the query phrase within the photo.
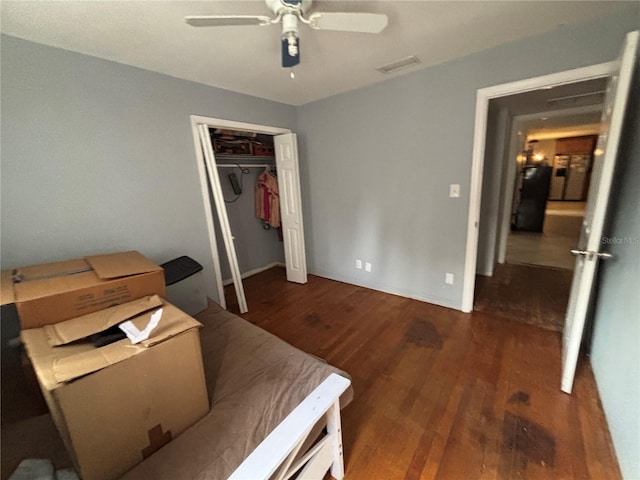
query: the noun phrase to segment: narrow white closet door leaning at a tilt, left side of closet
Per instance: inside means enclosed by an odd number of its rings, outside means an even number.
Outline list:
[[[241,313],[246,313],[248,311],[247,300],[244,296],[244,287],[242,286],[242,277],[240,275],[238,258],[236,256],[236,247],[233,243],[234,238],[231,234],[231,227],[229,226],[227,207],[224,204],[224,197],[222,196],[222,186],[220,185],[220,177],[218,176],[218,169],[216,168],[213,147],[211,146],[209,127],[207,125],[199,124],[198,135],[200,137],[200,145],[204,154],[204,164],[207,170],[207,178],[209,180],[211,193],[213,194],[214,203],[216,205],[220,229],[222,230],[224,247],[227,251],[227,259],[229,260],[229,268],[231,269],[231,276],[233,277],[233,285],[236,290],[236,297],[238,298],[238,306]],[[206,199],[206,201],[208,201],[208,199]],[[215,242],[215,239],[213,241]],[[221,282],[221,279],[218,279],[218,281]]]

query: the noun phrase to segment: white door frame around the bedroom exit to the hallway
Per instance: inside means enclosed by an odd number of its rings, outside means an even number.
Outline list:
[[[478,258],[478,230],[480,227],[480,202],[482,200],[482,174],[484,170],[489,101],[518,93],[530,92],[532,90],[608,77],[615,70],[615,63],[615,61],[599,63],[587,67],[527,78],[525,80],[518,80],[515,82],[503,83],[477,90],[471,161],[471,181],[469,185],[467,242],[462,279],[461,310],[463,312],[470,313],[473,311],[476,261]]]

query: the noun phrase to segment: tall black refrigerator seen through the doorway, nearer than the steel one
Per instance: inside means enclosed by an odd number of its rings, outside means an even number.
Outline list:
[[[551,183],[549,166],[522,167],[511,222],[512,230],[542,232]]]

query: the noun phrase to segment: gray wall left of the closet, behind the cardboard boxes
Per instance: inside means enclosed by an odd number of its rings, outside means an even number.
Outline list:
[[[295,108],[8,36],[1,53],[2,268],[189,255],[215,299],[189,116],[294,128]]]

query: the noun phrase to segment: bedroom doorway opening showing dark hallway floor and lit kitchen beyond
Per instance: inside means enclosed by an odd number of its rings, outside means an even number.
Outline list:
[[[474,310],[562,331],[575,264],[570,250],[579,243],[588,192],[590,164],[583,165],[581,171],[577,166],[586,155],[590,158],[595,148],[604,80],[490,101],[490,110],[521,114],[514,116],[510,128],[503,125],[507,130],[504,136],[510,133],[512,137],[504,142],[504,161],[492,163],[487,158],[485,162],[485,175],[503,175],[504,181],[500,185],[500,208],[481,212],[481,235],[488,233],[489,217],[503,218],[497,219],[498,231],[491,244],[496,249],[495,265],[486,247],[479,252],[479,266],[483,255],[490,257],[485,263],[491,264],[490,268],[478,269]],[[577,95],[584,105],[533,112],[548,109],[548,99],[570,98],[569,90],[573,95],[580,92]],[[532,101],[532,97],[537,100]],[[491,126],[490,122],[489,130]],[[586,147],[579,140],[587,140]],[[491,146],[492,141],[488,139],[487,144]],[[487,155],[496,155],[495,150],[488,149]],[[578,152],[586,155],[576,155],[574,170],[558,161],[566,160],[566,153]],[[567,178],[573,180],[570,189],[558,182]],[[483,188],[482,201],[490,199],[491,192]],[[490,242],[481,240],[483,243]]]

